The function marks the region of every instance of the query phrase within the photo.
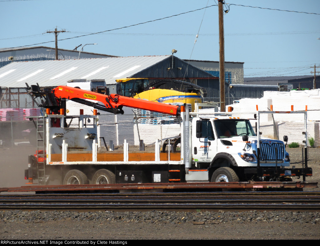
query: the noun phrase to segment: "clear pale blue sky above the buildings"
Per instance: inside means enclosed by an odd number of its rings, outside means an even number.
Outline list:
[[[118,56],[170,55],[219,60],[217,0],[0,0],[0,48],[54,41],[58,47]],[[225,61],[244,62],[245,77],[312,75],[320,66],[320,1],[228,0],[224,15]],[[162,19],[172,15],[171,18]],[[133,27],[87,35],[162,19]],[[201,24],[202,23],[202,24]],[[201,24],[201,27],[200,27]],[[200,29],[200,30],[199,30]],[[199,31],[196,44],[195,38]],[[87,35],[72,38],[75,36]],[[54,47],[54,42],[39,44]],[[320,68],[317,69],[320,71]]]

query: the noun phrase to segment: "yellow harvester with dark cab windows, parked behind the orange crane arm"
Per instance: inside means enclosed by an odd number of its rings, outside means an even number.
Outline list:
[[[190,104],[194,110],[195,103],[201,103],[204,88],[195,84],[173,80],[159,79],[150,82],[146,78],[126,78],[116,80],[120,84],[117,94],[148,101],[173,105]]]

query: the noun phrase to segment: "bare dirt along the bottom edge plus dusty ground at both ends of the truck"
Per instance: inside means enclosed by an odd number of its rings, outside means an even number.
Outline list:
[[[0,187],[25,185],[24,169],[28,155],[36,149],[28,145],[0,147]],[[292,165],[300,167],[302,150],[287,149]],[[320,184],[320,149],[309,149],[308,166],[313,176],[307,181]],[[294,181],[302,181],[295,179]],[[319,188],[308,190],[320,190]],[[0,222],[1,239],[320,239],[320,223],[226,222],[219,225],[109,222],[106,220],[75,221],[66,217],[59,221]]]

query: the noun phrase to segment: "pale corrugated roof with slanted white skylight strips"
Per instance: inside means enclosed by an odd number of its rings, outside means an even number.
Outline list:
[[[41,87],[66,85],[74,79],[104,79],[114,84],[155,65],[166,56],[110,57],[76,60],[12,62],[0,68],[0,87],[23,88],[25,83]]]

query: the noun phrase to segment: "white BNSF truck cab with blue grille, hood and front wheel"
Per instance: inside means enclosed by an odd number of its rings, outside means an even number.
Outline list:
[[[258,137],[249,119],[194,117],[191,125],[192,163],[208,169],[211,182],[273,181],[268,170],[290,166],[283,141],[260,138],[258,151]],[[258,179],[258,166],[268,175]]]

